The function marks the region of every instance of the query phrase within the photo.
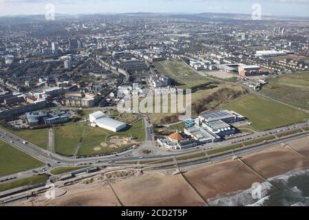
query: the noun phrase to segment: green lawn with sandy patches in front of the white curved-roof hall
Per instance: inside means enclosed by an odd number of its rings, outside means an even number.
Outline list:
[[[138,122],[134,122],[129,126],[129,128],[125,131],[121,131],[118,133],[114,133],[111,131],[107,131],[105,129],[92,128],[87,126],[87,130],[85,133],[85,138],[81,144],[81,149],[78,152],[78,155],[91,155],[91,154],[101,154],[101,153],[112,153],[116,151],[120,151],[123,148],[127,148],[127,146],[131,146],[134,144],[122,145],[119,148],[109,147],[109,146],[101,146],[101,143],[106,143],[107,145],[112,144],[110,141],[111,137],[136,137],[136,142],[141,143],[145,141],[145,128],[144,121],[139,120]],[[98,151],[94,151],[94,148],[100,148]]]

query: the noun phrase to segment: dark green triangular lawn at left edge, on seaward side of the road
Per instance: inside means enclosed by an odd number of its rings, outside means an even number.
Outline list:
[[[44,166],[42,162],[0,142],[0,177]]]

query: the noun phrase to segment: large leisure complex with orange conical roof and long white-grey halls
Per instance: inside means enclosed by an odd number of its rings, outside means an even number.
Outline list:
[[[182,150],[202,144],[220,142],[225,137],[235,135],[236,129],[228,123],[245,120],[235,111],[220,111],[200,115],[184,122],[184,133],[176,132],[169,137],[159,137],[158,143],[170,150]]]

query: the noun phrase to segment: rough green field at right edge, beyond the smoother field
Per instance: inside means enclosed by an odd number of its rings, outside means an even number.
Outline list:
[[[309,109],[309,73],[287,74],[271,78],[269,84],[265,85],[261,92],[296,107]]]

